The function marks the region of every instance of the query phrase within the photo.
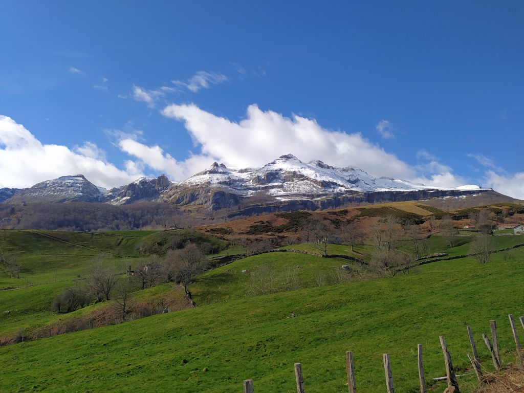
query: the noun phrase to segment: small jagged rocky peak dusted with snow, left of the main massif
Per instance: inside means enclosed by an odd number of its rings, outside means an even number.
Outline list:
[[[162,174],[158,178],[140,178],[122,187],[112,188],[104,195],[104,202],[123,205],[134,202],[157,201],[171,182]]]

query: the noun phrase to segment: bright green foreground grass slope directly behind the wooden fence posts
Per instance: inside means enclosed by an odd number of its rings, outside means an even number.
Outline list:
[[[293,363],[301,362],[308,392],[343,392],[344,351],[353,350],[358,391],[384,390],[381,355],[389,353],[396,389],[416,392],[416,345],[424,345],[428,381],[444,375],[440,334],[463,374],[466,324],[483,365],[492,367],[480,337],[489,319],[499,325],[503,362],[514,358],[507,314],[524,314],[523,259],[519,248],[486,265],[441,261],[407,276],[241,298],[1,347],[0,391],[216,393],[240,391],[254,378],[255,391],[292,392]],[[472,381],[471,373],[462,377],[462,390]]]

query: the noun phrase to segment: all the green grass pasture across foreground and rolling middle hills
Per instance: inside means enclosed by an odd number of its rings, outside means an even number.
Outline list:
[[[107,307],[95,304],[58,315],[50,312],[49,304],[98,255],[93,249],[111,253],[107,263],[127,263],[139,258],[139,242],[162,252],[169,232],[134,237],[46,233],[52,238],[29,231],[0,232],[0,246],[17,253],[22,276],[39,283],[0,291],[0,332],[52,325]],[[429,249],[466,254],[472,239],[460,236],[456,247],[446,249],[445,239],[432,236]],[[503,248],[524,243],[524,236],[495,236],[493,242]],[[368,249],[355,247],[362,253]],[[328,252],[355,255],[342,245],[330,245]],[[465,326],[472,326],[482,364],[491,369],[481,338],[489,331],[490,319],[499,325],[503,362],[514,360],[507,314],[524,314],[524,247],[493,254],[486,265],[462,258],[392,278],[318,286],[319,275],[328,277],[343,264],[351,265],[347,259],[299,253],[256,255],[195,280],[190,286],[199,305],[195,309],[0,347],[0,391],[230,392],[241,391],[242,380],[253,378],[255,391],[293,392],[293,363],[301,362],[308,393],[343,392],[344,352],[352,350],[358,391],[385,389],[382,354],[389,353],[397,391],[415,393],[416,345],[424,346],[426,379],[433,383],[432,378],[445,373],[439,344],[443,334],[457,374],[466,374],[459,380],[461,390],[468,392],[474,375],[466,358],[470,348]],[[270,267],[277,293],[256,296],[251,290],[250,275],[261,266]],[[0,276],[0,285],[13,280]],[[297,285],[290,287],[293,280]],[[155,300],[172,291],[165,284],[135,297]],[[444,384],[435,388],[443,390]]]

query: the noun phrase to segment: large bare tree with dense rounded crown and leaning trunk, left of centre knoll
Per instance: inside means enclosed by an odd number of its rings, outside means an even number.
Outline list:
[[[208,260],[200,248],[193,243],[185,245],[180,250],[171,250],[166,256],[166,266],[171,280],[178,281],[189,295],[188,285],[191,280],[208,265]]]

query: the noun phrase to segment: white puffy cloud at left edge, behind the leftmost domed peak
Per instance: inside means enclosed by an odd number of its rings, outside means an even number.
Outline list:
[[[43,180],[79,173],[105,188],[142,176],[106,162],[103,151],[91,142],[74,151],[67,146],[42,144],[23,125],[0,115],[0,187],[30,187]]]

